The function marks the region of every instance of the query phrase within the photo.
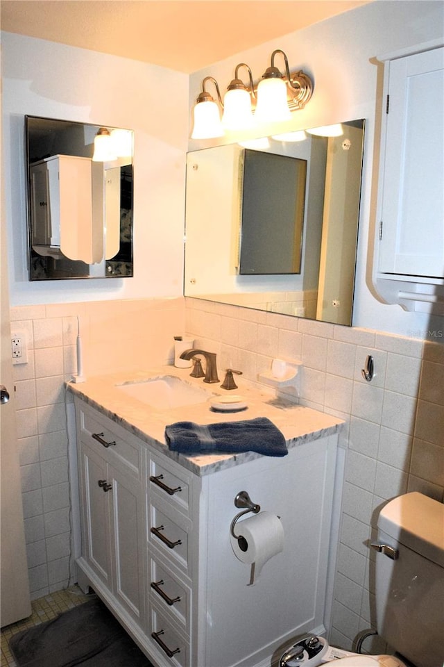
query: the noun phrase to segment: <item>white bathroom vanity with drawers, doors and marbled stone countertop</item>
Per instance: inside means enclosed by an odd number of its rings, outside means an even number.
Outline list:
[[[201,386],[189,370],[166,370]],[[242,391],[248,409],[239,413],[214,413],[206,402],[151,409],[119,390],[123,381],[149,375],[69,384],[80,493],[78,582],[96,591],[156,666],[269,666],[289,639],[325,629],[341,420],[254,387]],[[176,421],[258,416],[283,432],[287,456],[185,456],[165,444],[164,428]],[[250,565],[230,543],[240,491],[277,515],[284,531],[283,551],[253,585]]]

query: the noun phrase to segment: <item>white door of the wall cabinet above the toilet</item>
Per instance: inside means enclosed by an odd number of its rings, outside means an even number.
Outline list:
[[[388,67],[379,271],[444,277],[444,49]]]

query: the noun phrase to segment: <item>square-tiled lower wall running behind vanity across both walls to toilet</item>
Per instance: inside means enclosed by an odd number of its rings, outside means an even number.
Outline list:
[[[172,363],[187,331],[225,368],[257,381],[275,357],[302,361],[300,403],[343,418],[347,447],[330,641],[352,648],[375,622],[370,575],[377,509],[421,491],[443,500],[444,345],[199,299],[139,299],[12,308],[28,335],[16,365],[17,429],[33,598],[70,577],[69,475],[64,381],[76,370],[77,316],[86,375]],[[366,356],[375,377],[361,374]],[[364,650],[379,650],[366,640]]]

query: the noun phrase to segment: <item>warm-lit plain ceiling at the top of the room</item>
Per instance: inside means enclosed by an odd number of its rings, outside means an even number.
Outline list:
[[[368,1],[1,0],[0,10],[3,31],[189,73]]]

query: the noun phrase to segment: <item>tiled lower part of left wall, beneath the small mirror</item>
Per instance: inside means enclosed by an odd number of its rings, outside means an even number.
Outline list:
[[[173,336],[183,331],[184,304],[144,299],[12,308],[11,327],[26,331],[29,346],[28,363],[13,370],[32,598],[67,586],[71,577],[65,379],[76,370],[77,315],[85,370],[97,374],[131,363],[149,367],[171,361]],[[135,362],[124,354],[123,340],[127,348],[141,350]]]

